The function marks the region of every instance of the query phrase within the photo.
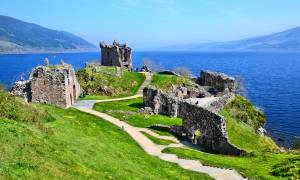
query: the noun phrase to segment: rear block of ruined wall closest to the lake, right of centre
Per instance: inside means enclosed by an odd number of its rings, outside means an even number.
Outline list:
[[[235,92],[237,86],[234,78],[222,73],[216,73],[205,70],[201,71],[198,83],[201,86],[214,87],[220,92],[226,89],[228,89],[230,92]]]

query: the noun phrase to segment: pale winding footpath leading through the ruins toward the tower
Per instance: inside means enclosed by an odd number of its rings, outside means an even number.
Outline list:
[[[81,101],[76,102],[73,107],[82,112],[86,112],[86,113],[98,116],[98,117],[122,128],[144,149],[144,151],[146,153],[153,155],[153,156],[157,156],[158,158],[160,158],[164,161],[176,163],[180,167],[187,169],[187,170],[208,174],[217,180],[245,179],[235,170],[204,166],[198,160],[181,159],[181,158],[178,158],[174,154],[162,153],[162,151],[168,147],[185,147],[185,148],[187,148],[187,147],[184,144],[180,143],[174,137],[161,136],[149,129],[137,128],[137,127],[131,126],[131,125],[127,124],[126,122],[120,121],[119,119],[114,118],[108,114],[93,110],[93,105],[95,103],[120,101],[120,100],[127,100],[127,99],[134,99],[134,98],[142,97],[143,96],[143,88],[148,86],[152,79],[152,75],[150,73],[145,73],[145,75],[146,75],[146,79],[145,79],[144,83],[140,87],[137,94],[134,96],[124,97],[124,98],[116,98],[116,99],[106,99],[106,100],[81,100]],[[171,140],[174,143],[167,145],[167,146],[157,145],[157,144],[153,143],[151,140],[149,140],[142,132],[146,132],[146,133],[148,133],[154,137],[160,138],[160,139]]]

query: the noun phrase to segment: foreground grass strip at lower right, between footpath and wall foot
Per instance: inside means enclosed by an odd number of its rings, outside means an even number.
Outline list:
[[[176,154],[181,158],[200,160],[202,164],[208,166],[235,169],[251,179],[299,178],[299,154],[261,152],[243,157],[234,157],[182,148],[167,148],[163,152]],[[281,162],[287,162],[290,158],[297,158],[298,162],[289,161],[285,165],[280,164]],[[291,168],[285,169],[284,167]],[[274,173],[276,169],[280,169],[279,171],[283,175],[280,175],[279,172]],[[284,173],[286,171],[287,173]]]

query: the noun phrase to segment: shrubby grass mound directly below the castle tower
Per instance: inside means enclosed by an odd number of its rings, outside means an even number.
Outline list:
[[[128,72],[116,67],[83,68],[76,72],[83,90],[89,95],[83,99],[108,99],[134,95],[145,80],[142,73]]]

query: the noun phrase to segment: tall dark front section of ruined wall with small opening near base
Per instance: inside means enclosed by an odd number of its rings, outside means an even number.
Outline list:
[[[230,155],[243,153],[229,143],[226,121],[220,115],[188,102],[180,103],[180,112],[183,119],[183,132],[191,141],[197,141],[197,144],[213,153]],[[196,133],[197,131],[199,134]]]

